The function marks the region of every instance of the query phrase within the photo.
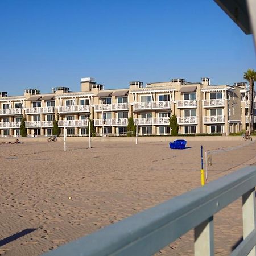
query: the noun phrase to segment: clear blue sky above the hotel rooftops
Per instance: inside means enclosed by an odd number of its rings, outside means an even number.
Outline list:
[[[255,69],[253,37],[213,0],[0,1],[0,91],[105,89],[184,78],[241,82]]]

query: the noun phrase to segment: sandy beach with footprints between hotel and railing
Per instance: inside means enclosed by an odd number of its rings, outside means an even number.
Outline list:
[[[3,141],[3,140],[2,140]],[[8,140],[6,140],[8,141]],[[20,139],[22,141],[22,139]],[[1,144],[0,255],[40,255],[200,187],[200,145],[212,154],[208,182],[256,165],[256,143],[29,141]],[[216,255],[242,237],[241,199],[214,216]],[[193,230],[157,255],[193,255]]]

